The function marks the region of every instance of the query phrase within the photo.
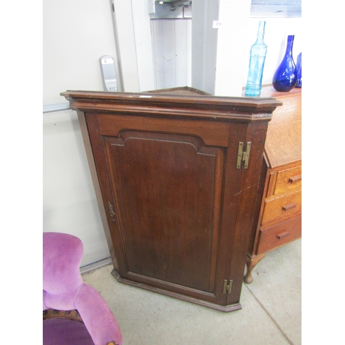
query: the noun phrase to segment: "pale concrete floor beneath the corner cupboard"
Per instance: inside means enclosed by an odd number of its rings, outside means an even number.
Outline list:
[[[267,253],[243,284],[242,310],[230,313],[121,284],[111,270],[82,276],[106,299],[124,345],[302,344],[301,239]]]

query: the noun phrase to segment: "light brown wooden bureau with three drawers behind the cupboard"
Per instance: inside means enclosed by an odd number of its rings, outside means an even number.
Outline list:
[[[275,92],[263,88],[263,97],[275,97],[283,106],[268,124],[264,158],[247,255],[244,282],[269,250],[302,236],[302,90]]]

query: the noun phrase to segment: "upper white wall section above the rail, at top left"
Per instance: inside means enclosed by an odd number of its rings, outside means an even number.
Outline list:
[[[103,90],[99,57],[115,57],[109,0],[43,1],[43,104],[69,90]]]

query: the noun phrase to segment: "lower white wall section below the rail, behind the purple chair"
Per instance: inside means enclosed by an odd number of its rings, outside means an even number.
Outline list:
[[[43,232],[81,239],[81,266],[110,257],[76,112],[43,114]]]

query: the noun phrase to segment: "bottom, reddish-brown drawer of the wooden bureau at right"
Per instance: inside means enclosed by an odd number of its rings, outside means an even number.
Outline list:
[[[283,221],[274,226],[261,228],[257,255],[266,253],[268,250],[283,246],[302,236],[302,216],[299,215],[288,221]]]

